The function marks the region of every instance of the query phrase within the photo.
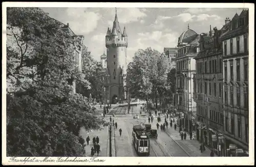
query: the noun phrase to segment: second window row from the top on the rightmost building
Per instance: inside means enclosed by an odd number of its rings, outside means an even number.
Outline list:
[[[236,74],[237,78],[236,80],[240,80],[240,59],[236,59]],[[230,80],[234,79],[233,74],[233,60],[229,60],[229,71],[230,71]],[[224,80],[227,80],[227,61],[224,61]],[[248,58],[244,59],[244,80],[248,80]]]

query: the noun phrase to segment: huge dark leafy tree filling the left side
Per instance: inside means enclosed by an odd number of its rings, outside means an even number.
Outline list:
[[[80,128],[102,122],[72,92],[70,81],[90,82],[61,26],[39,8],[7,8],[7,156],[83,156]]]

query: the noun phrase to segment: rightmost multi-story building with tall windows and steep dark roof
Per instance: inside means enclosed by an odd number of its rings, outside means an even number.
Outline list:
[[[223,47],[224,138],[226,156],[248,153],[248,10],[226,20]]]

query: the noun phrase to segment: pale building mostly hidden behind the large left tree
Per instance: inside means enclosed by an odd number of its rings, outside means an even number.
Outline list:
[[[78,69],[78,71],[82,71],[82,43],[84,36],[82,35],[76,35],[69,27],[69,23],[67,25],[63,25],[61,27],[63,31],[67,31],[70,36],[76,41],[74,43],[74,57],[75,57],[75,67]],[[73,80],[73,92],[76,93],[77,87],[76,87],[76,81]]]

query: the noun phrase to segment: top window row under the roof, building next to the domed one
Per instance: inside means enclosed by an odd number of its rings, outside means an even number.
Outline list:
[[[209,61],[205,61],[204,64],[203,62],[197,62],[197,73],[222,73],[222,59],[212,59]]]

